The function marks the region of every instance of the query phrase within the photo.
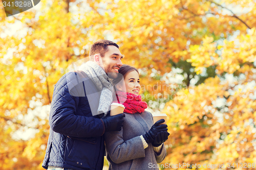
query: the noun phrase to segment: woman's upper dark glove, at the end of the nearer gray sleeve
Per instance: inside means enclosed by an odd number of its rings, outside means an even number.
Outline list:
[[[164,123],[164,119],[160,119],[158,120],[152,127],[151,129],[146,132],[144,135],[142,135],[145,139],[145,141],[147,143],[151,143],[153,141],[155,141],[155,137],[157,136],[157,133],[158,132],[161,132],[161,131],[167,131],[167,125],[159,125],[161,123]]]

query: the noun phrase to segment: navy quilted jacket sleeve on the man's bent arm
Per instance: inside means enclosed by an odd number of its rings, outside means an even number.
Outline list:
[[[53,131],[66,136],[98,137],[103,135],[104,123],[100,118],[75,114],[80,97],[70,94],[67,79],[70,80],[72,77],[74,75],[67,76],[66,74],[54,87],[49,118],[50,127]],[[78,93],[78,91],[75,93]],[[90,106],[88,108],[90,109]]]

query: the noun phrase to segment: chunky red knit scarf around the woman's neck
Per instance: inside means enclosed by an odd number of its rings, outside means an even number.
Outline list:
[[[141,101],[141,95],[117,91],[116,96],[125,107],[124,113],[142,113],[147,108],[146,102]],[[113,103],[118,103],[117,98]]]

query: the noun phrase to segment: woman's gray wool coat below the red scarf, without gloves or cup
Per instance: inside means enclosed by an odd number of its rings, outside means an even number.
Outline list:
[[[104,134],[109,169],[158,169],[156,166],[153,168],[152,164],[157,165],[165,158],[164,144],[157,154],[151,143],[144,149],[140,138],[152,125],[153,117],[150,112],[125,113],[122,130]]]

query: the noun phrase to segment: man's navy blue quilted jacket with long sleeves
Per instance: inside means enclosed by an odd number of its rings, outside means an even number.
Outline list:
[[[53,92],[42,167],[103,168],[104,124],[98,115],[93,116],[99,98],[100,91],[83,71],[68,72],[59,79]]]

